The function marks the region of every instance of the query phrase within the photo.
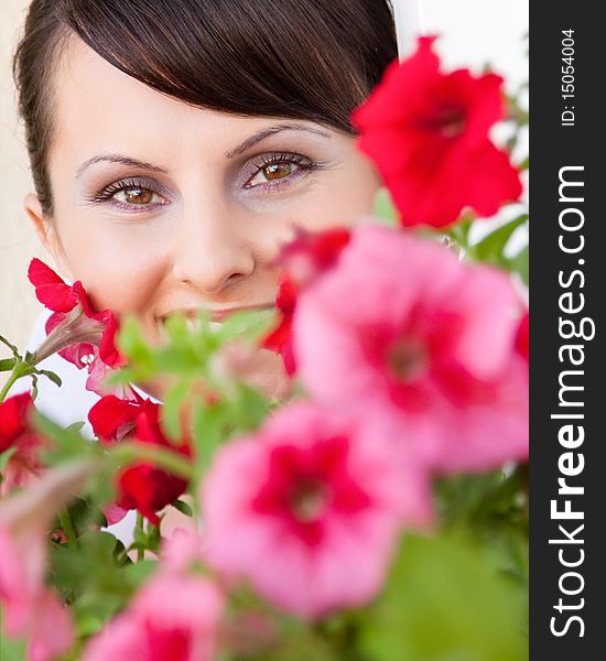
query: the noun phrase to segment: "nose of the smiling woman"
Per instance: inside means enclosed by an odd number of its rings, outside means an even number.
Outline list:
[[[173,275],[205,294],[216,294],[250,275],[256,260],[247,224],[235,217],[235,209],[219,199],[201,206],[184,209]]]

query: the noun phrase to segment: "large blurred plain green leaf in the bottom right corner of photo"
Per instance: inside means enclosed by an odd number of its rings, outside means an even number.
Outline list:
[[[523,661],[526,594],[457,538],[407,537],[362,649],[372,661]]]

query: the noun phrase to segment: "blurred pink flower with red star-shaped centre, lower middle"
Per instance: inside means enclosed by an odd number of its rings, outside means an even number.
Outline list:
[[[307,618],[372,598],[401,518],[430,514],[424,480],[396,475],[380,433],[309,404],[221,447],[201,499],[207,562]]]

